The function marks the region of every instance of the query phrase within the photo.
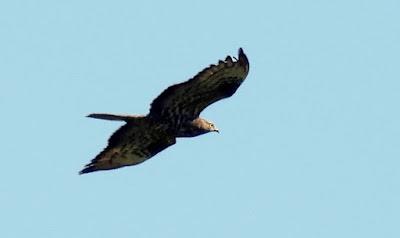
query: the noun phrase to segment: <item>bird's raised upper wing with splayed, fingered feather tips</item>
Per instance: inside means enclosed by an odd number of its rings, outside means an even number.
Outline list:
[[[248,72],[249,61],[240,48],[238,60],[228,56],[192,79],[167,88],[151,103],[149,116],[172,125],[193,120],[208,105],[232,96]]]

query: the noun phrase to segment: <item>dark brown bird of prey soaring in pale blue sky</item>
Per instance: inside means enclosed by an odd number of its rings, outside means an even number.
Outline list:
[[[249,72],[242,48],[239,57],[227,56],[186,82],[168,87],[151,103],[145,116],[94,113],[91,118],[125,121],[80,174],[136,165],[175,144],[178,137],[218,132],[199,115],[210,104],[232,96]]]

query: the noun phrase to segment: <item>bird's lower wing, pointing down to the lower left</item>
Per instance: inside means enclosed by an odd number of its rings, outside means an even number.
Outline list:
[[[136,165],[175,144],[175,137],[162,125],[152,125],[147,118],[128,122],[108,140],[108,146],[80,174]]]

